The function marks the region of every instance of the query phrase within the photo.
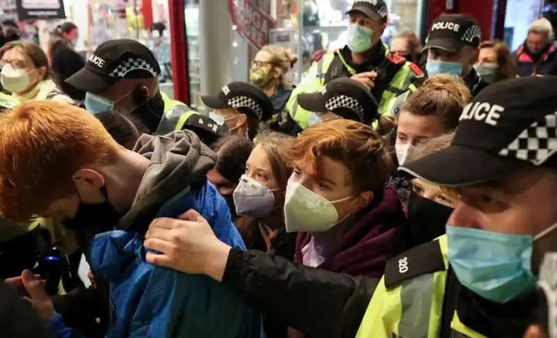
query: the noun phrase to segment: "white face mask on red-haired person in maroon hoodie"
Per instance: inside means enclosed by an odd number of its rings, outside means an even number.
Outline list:
[[[352,196],[329,201],[296,182],[288,182],[284,203],[284,220],[287,232],[325,232],[345,220],[338,219],[334,204],[350,200]]]

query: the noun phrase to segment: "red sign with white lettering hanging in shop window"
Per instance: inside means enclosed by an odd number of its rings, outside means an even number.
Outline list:
[[[274,19],[263,13],[251,0],[240,0],[240,6],[230,0],[230,15],[238,33],[253,47],[261,49],[269,45],[269,31],[274,29]]]

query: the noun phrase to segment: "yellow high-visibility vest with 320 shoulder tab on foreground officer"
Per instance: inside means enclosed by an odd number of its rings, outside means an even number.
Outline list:
[[[448,264],[446,235],[391,259],[356,338],[439,338]],[[450,328],[454,337],[487,338],[466,327],[456,312]]]

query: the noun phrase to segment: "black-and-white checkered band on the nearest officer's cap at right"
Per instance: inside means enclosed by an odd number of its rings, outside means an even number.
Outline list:
[[[557,152],[557,112],[533,122],[517,138],[499,151],[501,156],[515,157],[535,166],[542,165]]]

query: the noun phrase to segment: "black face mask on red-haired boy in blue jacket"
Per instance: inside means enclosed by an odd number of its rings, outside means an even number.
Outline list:
[[[75,216],[62,222],[65,227],[75,231],[77,243],[87,259],[91,240],[97,234],[114,230],[121,216],[110,204],[107,188],[103,186],[100,188],[100,192],[104,197],[104,202],[84,203],[81,202],[80,196]],[[79,196],[79,193],[77,195]]]

